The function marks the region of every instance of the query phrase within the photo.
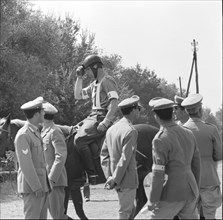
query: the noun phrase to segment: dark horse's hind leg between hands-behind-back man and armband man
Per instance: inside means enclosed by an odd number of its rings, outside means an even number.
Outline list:
[[[143,208],[143,206],[147,203],[148,199],[145,193],[145,188],[143,185],[143,181],[147,173],[138,173],[138,178],[139,178],[139,186],[136,191],[136,209],[135,209],[135,214],[134,218],[136,215],[140,212],[140,210]]]

